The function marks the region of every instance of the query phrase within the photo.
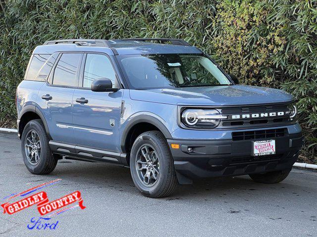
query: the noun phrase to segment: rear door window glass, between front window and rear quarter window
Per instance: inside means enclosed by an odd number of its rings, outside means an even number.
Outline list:
[[[63,53],[56,65],[54,85],[77,86],[77,68],[80,53]]]

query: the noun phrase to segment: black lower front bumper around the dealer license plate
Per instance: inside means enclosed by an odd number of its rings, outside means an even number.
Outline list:
[[[254,140],[168,139],[167,142],[174,159],[178,181],[181,184],[188,184],[195,178],[291,169],[303,146],[302,133],[287,134],[272,139],[275,139],[276,154],[261,157],[252,156]],[[172,149],[171,144],[179,144],[179,149]],[[193,152],[188,152],[189,147]]]

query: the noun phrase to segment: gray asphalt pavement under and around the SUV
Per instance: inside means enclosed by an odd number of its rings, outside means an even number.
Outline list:
[[[51,200],[80,191],[85,209],[74,207],[50,220],[55,229],[28,229],[36,206],[0,213],[0,237],[317,237],[317,172],[294,169],[279,184],[248,176],[213,178],[178,186],[170,197],[143,197],[130,170],[105,163],[59,160],[49,175],[25,168],[15,133],[0,133],[0,204],[34,186],[61,179],[45,191]],[[2,208],[1,208],[2,212]],[[48,216],[43,216],[48,217]]]

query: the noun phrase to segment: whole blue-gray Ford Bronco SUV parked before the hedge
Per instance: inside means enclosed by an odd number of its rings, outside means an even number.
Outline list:
[[[239,85],[178,39],[53,40],[37,46],[16,93],[24,163],[130,167],[148,197],[195,178],[245,175],[277,183],[303,137],[292,95]]]

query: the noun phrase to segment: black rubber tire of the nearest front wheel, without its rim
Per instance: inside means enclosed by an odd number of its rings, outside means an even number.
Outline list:
[[[140,149],[145,146],[153,148],[159,160],[159,166],[157,166],[159,167],[158,178],[157,180],[153,179],[155,182],[151,187],[144,184],[137,170],[137,160],[142,156],[138,154]],[[168,149],[165,137],[159,131],[144,132],[135,140],[130,155],[130,170],[135,186],[147,197],[167,197],[174,191],[178,184],[174,169],[174,160]]]

